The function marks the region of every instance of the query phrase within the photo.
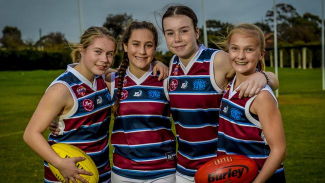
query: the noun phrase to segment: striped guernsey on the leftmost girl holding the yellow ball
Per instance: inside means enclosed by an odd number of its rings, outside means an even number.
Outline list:
[[[51,84],[62,83],[69,88],[74,106],[55,121],[60,128],[57,136],[49,134],[48,143],[69,143],[86,152],[95,162],[99,172],[99,182],[110,181],[108,133],[111,114],[111,98],[104,75],[96,75],[93,83],[73,68],[67,70]],[[57,182],[48,164],[44,161],[44,182]]]

